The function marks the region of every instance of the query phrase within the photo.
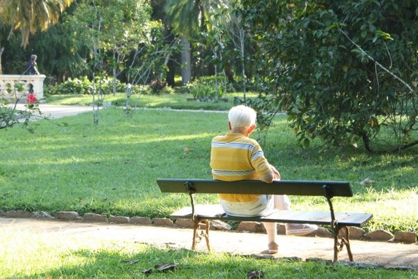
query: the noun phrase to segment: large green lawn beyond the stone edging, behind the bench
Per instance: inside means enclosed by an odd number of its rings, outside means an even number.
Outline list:
[[[62,125],[65,123],[65,125]],[[189,203],[181,194],[162,195],[157,178],[211,178],[210,140],[226,133],[226,114],[121,109],[0,130],[0,208],[4,211],[77,211],[114,216],[167,217]],[[59,125],[61,124],[61,125]],[[278,116],[263,149],[282,179],[349,181],[353,198],[335,198],[336,211],[373,213],[367,230],[418,230],[417,148],[371,156],[361,149],[313,146],[303,150]],[[369,178],[374,183],[362,185]],[[322,197],[292,197],[294,209],[327,210]],[[199,202],[217,202],[216,195]]]

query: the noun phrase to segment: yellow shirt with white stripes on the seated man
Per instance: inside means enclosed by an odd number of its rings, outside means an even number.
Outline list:
[[[210,167],[213,179],[222,181],[258,180],[270,172],[260,144],[238,133],[212,139]],[[252,202],[260,195],[219,194],[219,197],[229,202]]]

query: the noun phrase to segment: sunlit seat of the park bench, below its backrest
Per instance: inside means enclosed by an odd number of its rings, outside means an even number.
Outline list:
[[[269,216],[256,217],[236,217],[227,216],[222,207],[217,204],[198,204],[195,211],[199,218],[208,220],[235,220],[235,221],[256,221],[256,222],[277,222],[277,223],[309,223],[316,225],[330,225],[330,212],[311,212],[311,211],[287,211],[277,210]],[[170,216],[175,219],[192,218],[192,207],[185,206],[174,212]],[[368,213],[343,213],[335,212],[335,218],[339,225],[362,227],[373,217]]]

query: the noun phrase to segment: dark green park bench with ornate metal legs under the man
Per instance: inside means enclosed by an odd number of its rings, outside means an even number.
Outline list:
[[[334,212],[332,197],[353,197],[353,192],[348,182],[336,181],[218,181],[211,179],[157,179],[157,184],[162,193],[187,193],[190,196],[191,206],[170,215],[173,219],[192,219],[194,221],[192,249],[196,248],[196,240],[204,237],[206,246],[209,244],[210,220],[222,221],[253,221],[275,223],[307,223],[314,225],[330,225],[334,236],[334,262],[338,260],[338,253],[344,246],[347,248],[348,258],[353,262],[353,254],[350,249],[348,227],[362,227],[372,217],[368,213]],[[268,216],[236,217],[228,216],[222,207],[215,204],[199,205],[194,202],[196,194],[256,194],[256,195],[300,195],[323,196],[330,206],[330,211],[274,211]],[[200,225],[206,225],[201,235],[198,234]]]

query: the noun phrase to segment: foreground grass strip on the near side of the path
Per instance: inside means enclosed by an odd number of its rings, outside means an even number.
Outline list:
[[[51,239],[35,237],[26,231],[2,235],[2,279],[247,278],[250,271],[263,271],[264,278],[281,279],[413,279],[418,276],[418,271],[355,269],[339,263],[254,259],[228,253],[155,248],[129,241],[99,243],[96,239],[84,239],[77,243],[68,241],[68,236]],[[155,268],[169,263],[176,264],[176,269],[161,272]]]

